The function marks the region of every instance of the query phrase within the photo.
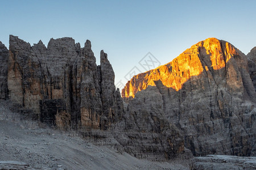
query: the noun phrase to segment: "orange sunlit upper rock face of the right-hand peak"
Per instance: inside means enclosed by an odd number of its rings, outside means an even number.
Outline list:
[[[192,76],[200,78],[203,72],[225,68],[229,59],[236,55],[237,49],[229,42],[215,38],[200,41],[166,65],[135,75],[123,88],[122,97],[134,97],[138,91],[155,86],[158,80],[179,91]]]

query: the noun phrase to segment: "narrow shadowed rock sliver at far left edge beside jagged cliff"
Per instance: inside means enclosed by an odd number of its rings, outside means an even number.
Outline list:
[[[0,41],[0,99],[7,99],[7,67],[8,67],[9,50]]]

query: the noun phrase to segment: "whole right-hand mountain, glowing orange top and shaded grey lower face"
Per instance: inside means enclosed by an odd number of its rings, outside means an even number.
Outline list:
[[[135,75],[122,97],[135,108],[129,112],[160,114],[176,125],[193,155],[253,156],[256,95],[247,65],[245,54],[229,42],[206,39]]]

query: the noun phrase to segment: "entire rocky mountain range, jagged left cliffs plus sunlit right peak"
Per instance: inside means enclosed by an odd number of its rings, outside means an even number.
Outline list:
[[[75,130],[88,141],[137,158],[253,156],[256,49],[245,56],[226,41],[207,39],[166,65],[115,90],[114,71],[90,41],[64,37],[31,46],[10,36],[0,43],[1,99],[24,117]],[[9,53],[9,54],[8,54]]]

